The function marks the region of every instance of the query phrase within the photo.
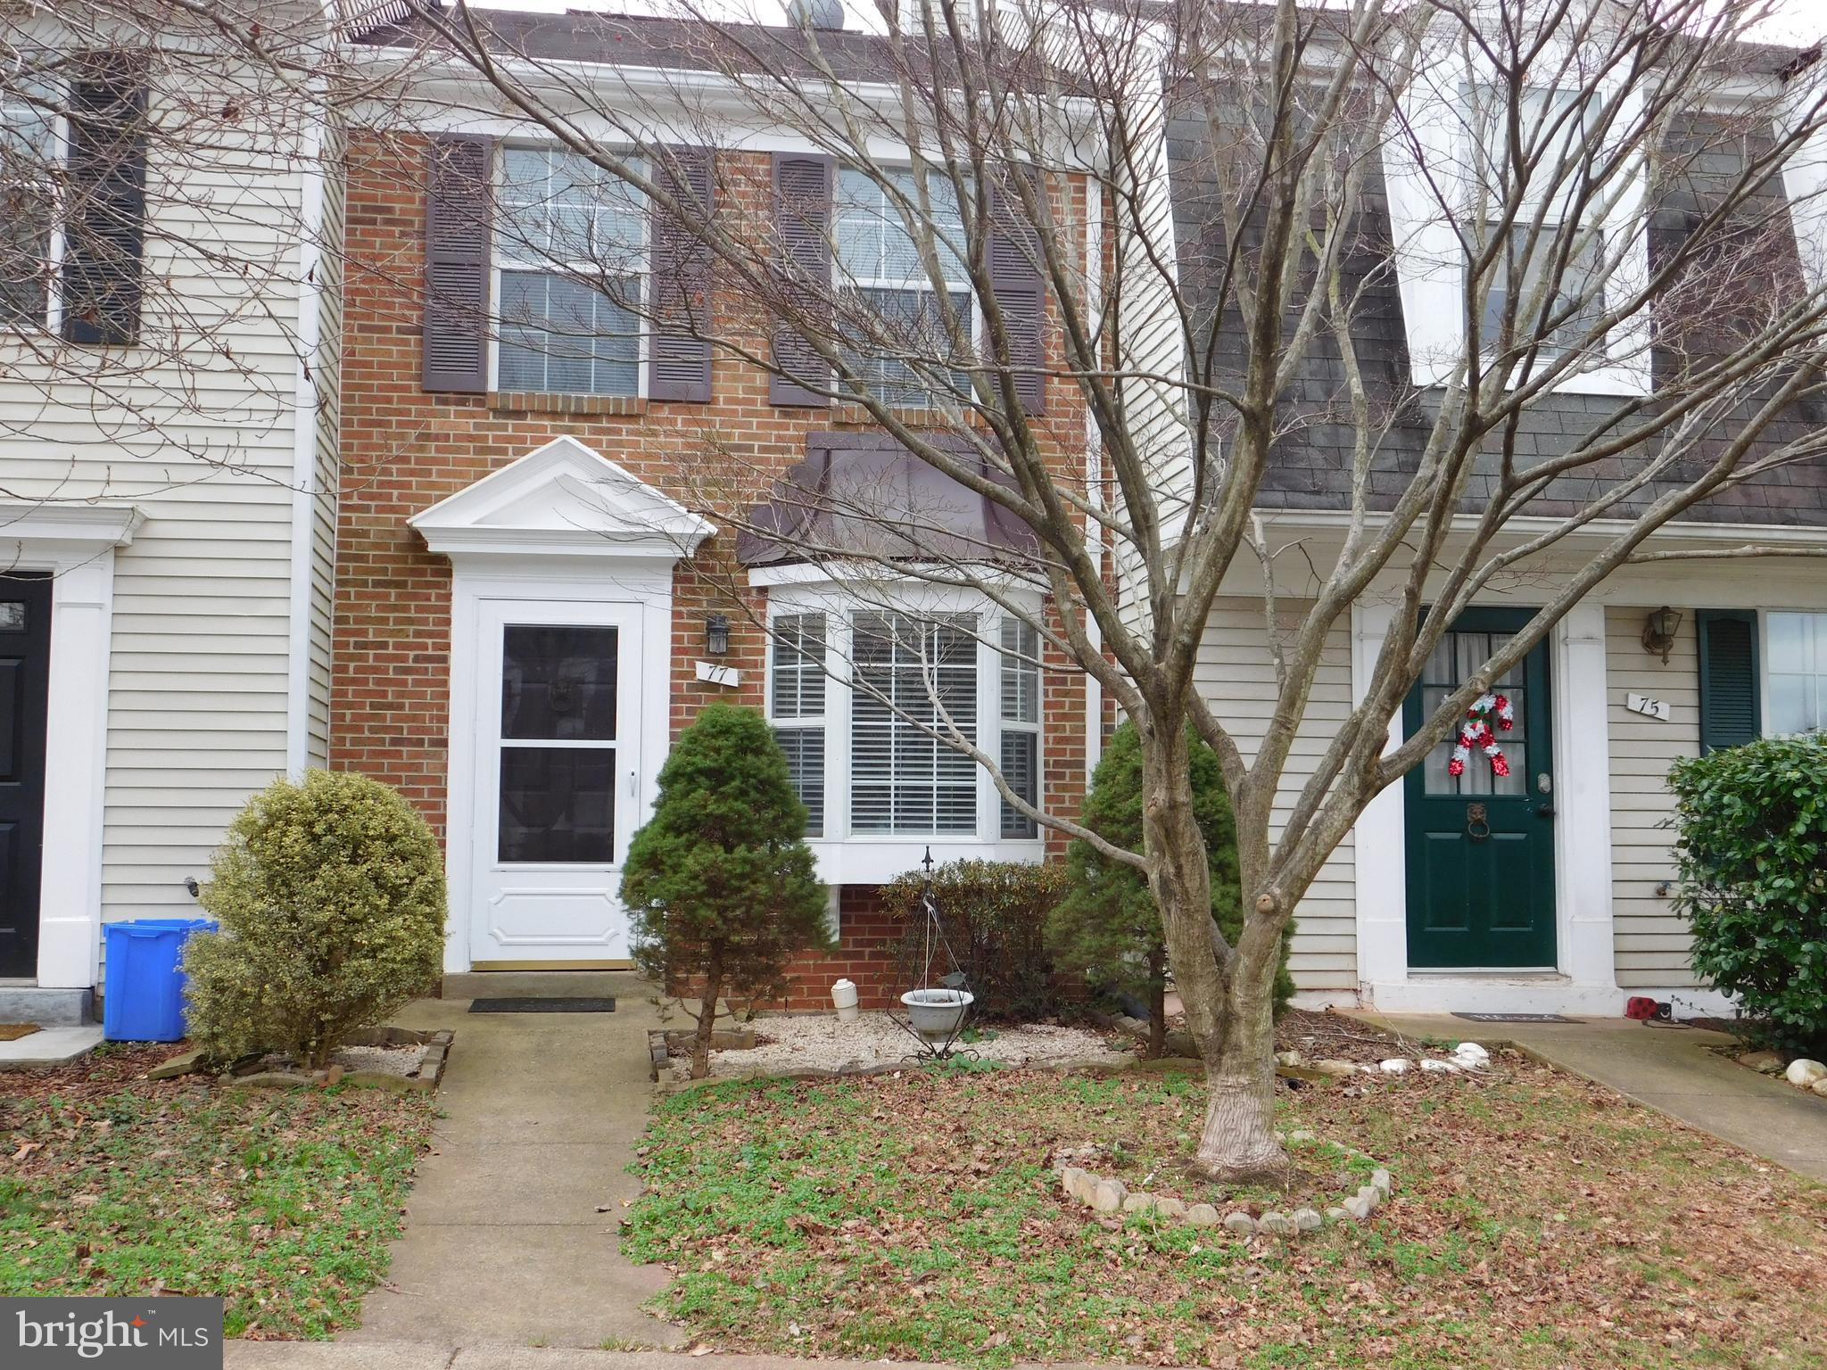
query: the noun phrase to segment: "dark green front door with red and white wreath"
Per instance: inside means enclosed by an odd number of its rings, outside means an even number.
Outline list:
[[[1467,612],[1434,648],[1403,711],[1405,732],[1420,729],[1527,612]],[[1555,966],[1555,773],[1549,736],[1547,645],[1524,658],[1493,689],[1513,711],[1494,727],[1509,765],[1493,771],[1473,747],[1452,775],[1458,732],[1405,778],[1409,827],[1409,964],[1420,970],[1553,970]]]

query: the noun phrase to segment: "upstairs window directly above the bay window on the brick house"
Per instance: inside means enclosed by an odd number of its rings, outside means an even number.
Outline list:
[[[956,318],[972,327],[970,285],[957,247],[965,219],[952,181],[926,174],[930,214],[915,208],[919,188],[912,170],[839,170],[833,195],[833,247],[840,298],[866,309],[857,323],[853,373],[884,404],[926,407],[945,402],[945,389],[963,389],[966,378],[937,364],[959,349],[939,305],[934,274],[921,259],[921,241],[910,225],[932,232],[939,279]]]

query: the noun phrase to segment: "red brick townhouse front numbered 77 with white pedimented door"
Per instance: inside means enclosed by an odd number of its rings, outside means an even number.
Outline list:
[[[491,22],[504,49],[566,62],[585,84],[594,66],[614,88],[619,68],[672,60],[661,22]],[[877,40],[822,37],[868,69]],[[409,37],[376,37],[387,42]],[[446,128],[382,128],[349,150],[331,762],[396,785],[440,831],[446,970],[621,966],[621,859],[671,738],[711,700],[762,707],[811,811],[839,941],[797,966],[791,1001],[829,1003],[829,983],[848,975],[864,1003],[882,1003],[908,986],[893,986],[903,928],[877,886],[928,851],[1041,860],[1058,842],[974,762],[871,705],[846,674],[868,672],[919,712],[932,707],[921,658],[943,661],[946,709],[974,720],[979,745],[1047,804],[1076,807],[1096,720],[1083,680],[988,599],[903,586],[910,616],[952,625],[915,630],[946,638],[915,645],[892,623],[895,588],[850,595],[789,537],[753,530],[784,482],[926,513],[937,502],[948,532],[979,543],[1019,533],[981,497],[935,482],[861,409],[736,356],[771,345],[767,320],[733,318],[740,296],[709,290],[696,340],[597,314],[614,338],[566,354],[565,281],[524,245],[544,241],[543,216],[588,168],[524,122],[459,113],[473,90],[438,104],[453,111]],[[586,106],[557,108],[592,126]],[[791,132],[738,132],[733,148],[681,157],[707,212],[766,217],[791,201],[811,241],[846,214],[861,230],[835,236],[873,236],[877,256],[839,269],[882,290],[923,289],[917,269],[892,265],[893,243],[879,247],[892,214],[866,177]],[[608,212],[618,223],[601,232],[632,245],[641,289],[660,289],[678,269],[665,216],[621,201]],[[440,290],[446,263],[464,300]],[[1045,338],[1038,314],[1034,336]],[[1043,440],[1076,460],[1083,418],[1067,389],[1032,398]]]

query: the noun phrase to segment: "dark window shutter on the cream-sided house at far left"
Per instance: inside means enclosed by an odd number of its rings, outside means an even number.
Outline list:
[[[146,68],[84,55],[69,82],[69,216],[62,316],[73,343],[139,340],[146,247]]]

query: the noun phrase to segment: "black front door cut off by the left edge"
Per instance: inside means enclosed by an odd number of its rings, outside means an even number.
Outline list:
[[[0,975],[38,974],[49,577],[0,575]]]

